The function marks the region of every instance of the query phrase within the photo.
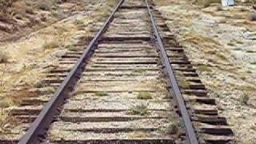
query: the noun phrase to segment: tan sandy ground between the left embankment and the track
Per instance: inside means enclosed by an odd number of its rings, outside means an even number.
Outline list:
[[[0,42],[0,132],[10,121],[8,111],[18,106],[30,90],[45,78],[66,51],[82,38],[91,37],[102,26],[117,1],[82,1],[86,6],[71,16],[14,42]],[[66,6],[68,10],[69,6]],[[7,117],[7,118],[6,118]]]

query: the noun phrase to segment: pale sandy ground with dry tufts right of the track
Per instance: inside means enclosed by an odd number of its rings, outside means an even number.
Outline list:
[[[237,143],[256,142],[256,22],[249,6],[155,1],[198,74],[228,118]]]

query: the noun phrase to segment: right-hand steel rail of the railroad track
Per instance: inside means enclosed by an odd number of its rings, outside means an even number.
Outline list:
[[[182,114],[182,121],[185,125],[185,129],[186,129],[186,135],[187,135],[187,140],[188,143],[190,144],[198,144],[198,137],[195,134],[194,131],[194,127],[192,125],[192,122],[190,120],[190,114],[188,113],[187,109],[186,109],[186,104],[184,102],[184,99],[182,97],[182,93],[179,90],[178,87],[178,82],[177,79],[174,76],[174,70],[173,68],[170,66],[171,61],[168,58],[168,55],[166,53],[166,49],[162,44],[162,38],[158,32],[158,26],[156,24],[156,22],[154,21],[154,15],[152,13],[152,10],[146,1],[146,6],[147,6],[147,10],[150,14],[150,20],[154,29],[154,40],[156,41],[157,45],[158,45],[158,49],[160,50],[160,56],[162,57],[162,62],[165,66],[166,69],[166,73],[167,73],[167,77],[168,77],[168,81],[170,82],[171,88],[174,92],[174,98],[178,104],[178,108]]]

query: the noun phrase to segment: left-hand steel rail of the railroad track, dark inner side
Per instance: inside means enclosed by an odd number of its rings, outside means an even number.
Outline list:
[[[65,101],[68,94],[73,90],[75,83],[81,77],[81,73],[84,70],[86,65],[86,59],[90,58],[90,55],[94,53],[94,49],[98,45],[98,40],[102,37],[102,34],[105,32],[107,27],[110,25],[110,22],[114,18],[114,14],[118,8],[122,5],[123,0],[118,2],[118,5],[115,7],[110,17],[106,20],[101,30],[98,31],[98,34],[84,50],[82,56],[78,59],[78,62],[74,68],[70,71],[68,76],[64,79],[61,86],[58,87],[58,90],[54,93],[54,96],[46,103],[38,118],[34,120],[30,129],[26,131],[26,134],[20,139],[18,144],[34,144],[39,143],[40,138],[44,138],[46,130],[49,129],[51,122],[54,120],[54,115],[58,114],[60,107]]]

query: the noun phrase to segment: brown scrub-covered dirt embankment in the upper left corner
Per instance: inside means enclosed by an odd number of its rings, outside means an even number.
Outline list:
[[[18,39],[33,30],[83,10],[86,1],[0,0],[0,42]]]

